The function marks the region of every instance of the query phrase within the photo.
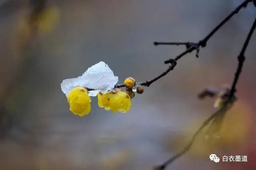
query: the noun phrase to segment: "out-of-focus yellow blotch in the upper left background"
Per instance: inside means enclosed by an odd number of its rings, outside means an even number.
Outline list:
[[[38,31],[40,33],[48,33],[52,31],[55,27],[56,23],[59,20],[59,10],[58,8],[50,8],[48,10],[44,10],[40,15],[38,24]]]

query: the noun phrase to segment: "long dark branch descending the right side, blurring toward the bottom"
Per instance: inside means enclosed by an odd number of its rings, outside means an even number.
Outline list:
[[[234,76],[232,87],[231,87],[231,89],[229,91],[229,94],[228,94],[228,98],[224,102],[223,106],[203,122],[203,124],[200,126],[200,128],[192,136],[192,139],[189,141],[188,145],[181,152],[179,152],[178,154],[175,154],[174,156],[172,156],[170,159],[168,159],[163,164],[161,164],[159,166],[156,166],[155,170],[164,170],[169,164],[174,162],[174,160],[180,158],[180,156],[182,156],[186,152],[188,152],[190,150],[190,148],[192,147],[192,145],[193,145],[196,137],[198,136],[198,134],[202,131],[202,129],[204,129],[204,127],[206,127],[210,123],[210,121],[213,120],[213,123],[210,125],[209,129],[211,129],[211,127],[213,128],[216,125],[216,123],[217,123],[217,127],[219,127],[219,125],[220,125],[219,120],[223,120],[224,115],[226,114],[228,109],[230,109],[230,104],[233,104],[232,98],[234,98],[234,93],[236,92],[236,84],[237,84],[239,76],[242,72],[242,67],[243,67],[244,60],[245,60],[244,53],[246,51],[246,48],[248,46],[248,43],[249,43],[249,41],[252,37],[252,34],[253,34],[255,28],[256,28],[256,18],[255,18],[255,20],[252,24],[252,27],[251,27],[248,35],[247,35],[247,38],[244,42],[242,50],[240,51],[240,54],[238,55],[238,67],[236,69],[236,73],[235,73],[235,76]],[[220,130],[220,129],[217,129],[217,130]]]

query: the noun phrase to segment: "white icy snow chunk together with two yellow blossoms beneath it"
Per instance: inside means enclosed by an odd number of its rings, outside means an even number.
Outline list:
[[[113,113],[126,113],[131,106],[130,96],[114,88],[117,82],[118,77],[114,76],[106,63],[100,61],[88,68],[82,76],[63,80],[60,86],[74,115],[88,115],[91,110],[89,96],[97,95],[99,107]]]

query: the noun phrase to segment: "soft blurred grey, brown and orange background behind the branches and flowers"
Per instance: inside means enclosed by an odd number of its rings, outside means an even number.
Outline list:
[[[216,109],[199,101],[205,87],[231,84],[237,55],[256,16],[249,4],[207,47],[183,57],[164,78],[113,114],[92,99],[89,115],[73,115],[60,83],[100,61],[119,83],[150,80],[184,47],[154,41],[202,39],[242,0],[1,0],[0,169],[150,170],[178,152]],[[200,135],[190,152],[167,169],[256,169],[254,33],[221,138]],[[131,69],[132,68],[132,69]],[[217,154],[220,163],[210,162]],[[248,162],[222,162],[246,155]]]

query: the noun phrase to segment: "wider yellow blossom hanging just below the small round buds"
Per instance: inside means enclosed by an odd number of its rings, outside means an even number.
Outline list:
[[[116,89],[106,94],[98,93],[97,96],[99,107],[104,107],[105,110],[111,110],[113,113],[116,111],[126,113],[132,105],[130,96],[122,90]]]

